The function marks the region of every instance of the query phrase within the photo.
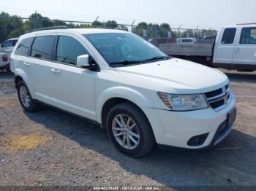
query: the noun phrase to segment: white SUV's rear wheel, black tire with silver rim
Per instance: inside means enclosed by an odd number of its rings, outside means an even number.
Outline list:
[[[23,109],[26,112],[36,112],[38,109],[37,101],[35,101],[31,97],[29,88],[26,86],[26,83],[24,81],[21,80],[20,82],[18,82],[17,91],[18,91],[18,98],[20,101],[20,105],[23,107]]]

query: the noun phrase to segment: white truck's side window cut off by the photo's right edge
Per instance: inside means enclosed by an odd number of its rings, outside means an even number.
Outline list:
[[[242,29],[240,44],[256,44],[256,27]]]

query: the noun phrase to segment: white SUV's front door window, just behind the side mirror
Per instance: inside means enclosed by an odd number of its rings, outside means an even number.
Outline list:
[[[69,36],[59,36],[56,61],[77,64],[79,55],[89,54],[80,42]]]

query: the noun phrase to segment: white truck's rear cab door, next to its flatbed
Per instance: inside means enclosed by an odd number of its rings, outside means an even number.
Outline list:
[[[232,63],[235,47],[236,28],[225,28],[221,31],[214,52],[214,62]]]

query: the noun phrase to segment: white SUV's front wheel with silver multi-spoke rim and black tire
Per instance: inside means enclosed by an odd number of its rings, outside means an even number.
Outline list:
[[[154,133],[145,114],[129,102],[117,104],[110,109],[106,126],[115,147],[129,157],[143,157],[155,145]]]

